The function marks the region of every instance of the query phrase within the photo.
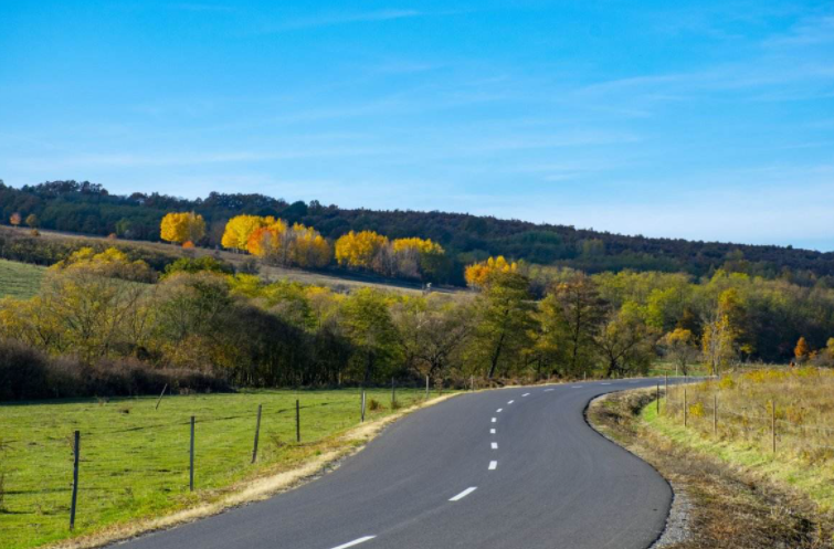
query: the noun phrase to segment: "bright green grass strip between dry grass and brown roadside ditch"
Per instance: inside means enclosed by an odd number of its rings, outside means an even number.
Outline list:
[[[830,462],[810,463],[788,452],[773,455],[762,448],[766,444],[727,440],[720,434],[715,437],[692,426],[684,427],[680,413],[667,415],[663,402],[659,414],[655,402],[652,402],[643,409],[641,416],[648,429],[676,445],[689,447],[717,457],[730,466],[789,485],[804,493],[823,511],[834,509],[834,471]]]

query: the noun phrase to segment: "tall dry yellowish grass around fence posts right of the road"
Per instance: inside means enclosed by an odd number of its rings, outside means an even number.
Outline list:
[[[684,402],[686,401],[686,409]],[[717,404],[717,405],[716,405]],[[819,464],[834,462],[834,371],[762,368],[669,388],[661,413],[705,436]]]

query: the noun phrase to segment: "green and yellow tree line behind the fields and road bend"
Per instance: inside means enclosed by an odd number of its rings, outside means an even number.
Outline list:
[[[724,271],[694,279],[502,257],[476,265],[472,292],[344,294],[234,273],[211,256],[158,273],[115,249],[80,250],[35,297],[0,300],[0,339],[91,371],[129,360],[247,387],[619,377],[662,356],[684,371],[834,362],[831,289]]]

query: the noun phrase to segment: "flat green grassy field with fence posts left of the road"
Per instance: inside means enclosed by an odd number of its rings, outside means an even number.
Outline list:
[[[300,401],[302,443],[295,441]],[[392,412],[390,390],[371,390]],[[398,391],[403,407],[420,390]],[[0,547],[32,548],[71,537],[73,431],[81,431],[80,493],[72,536],[217,500],[240,481],[287,471],[339,444],[359,423],[358,390],[84,400],[0,405]],[[257,405],[258,461],[251,464]],[[196,426],[196,490],[189,492],[190,416]]]

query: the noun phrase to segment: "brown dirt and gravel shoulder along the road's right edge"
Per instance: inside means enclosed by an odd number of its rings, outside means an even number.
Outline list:
[[[654,548],[834,548],[834,520],[807,497],[652,430],[640,418],[645,405],[653,405],[652,393],[601,397],[589,407],[588,420],[671,483],[675,503]]]

